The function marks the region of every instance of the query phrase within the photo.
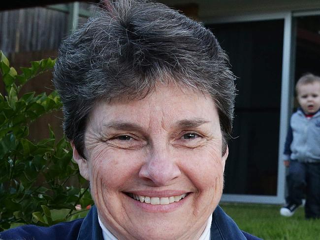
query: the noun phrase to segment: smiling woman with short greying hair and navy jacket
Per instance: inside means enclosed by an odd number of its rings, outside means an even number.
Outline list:
[[[108,2],[63,42],[54,73],[95,207],[85,219],[1,238],[257,239],[218,206],[233,80],[200,24],[159,3]]]

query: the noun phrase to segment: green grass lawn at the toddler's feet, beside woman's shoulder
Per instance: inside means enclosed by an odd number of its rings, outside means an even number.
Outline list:
[[[264,240],[320,240],[320,220],[306,220],[303,207],[292,217],[283,217],[278,205],[222,203],[220,206],[241,230]]]

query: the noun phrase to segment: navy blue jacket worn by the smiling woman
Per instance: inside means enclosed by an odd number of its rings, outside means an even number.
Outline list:
[[[218,206],[212,216],[212,240],[259,240],[242,232]],[[24,225],[0,233],[0,240],[103,240],[96,207],[85,218],[51,227]]]

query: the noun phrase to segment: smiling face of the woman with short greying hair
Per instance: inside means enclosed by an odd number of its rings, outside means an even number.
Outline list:
[[[118,239],[197,239],[220,201],[227,151],[210,96],[161,86],[142,100],[97,103],[85,152],[74,158]]]

